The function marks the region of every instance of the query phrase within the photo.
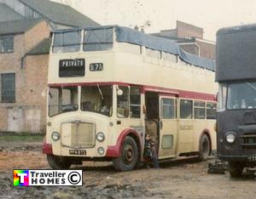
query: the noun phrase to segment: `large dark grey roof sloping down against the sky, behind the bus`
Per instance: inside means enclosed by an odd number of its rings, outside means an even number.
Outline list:
[[[42,14],[46,19],[65,26],[99,26],[84,14],[70,6],[49,0],[20,0],[21,3]]]

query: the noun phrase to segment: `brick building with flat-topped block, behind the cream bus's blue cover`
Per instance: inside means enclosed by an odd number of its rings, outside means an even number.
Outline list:
[[[177,42],[190,54],[196,54],[215,60],[215,43],[203,38],[203,29],[177,20],[176,29],[160,31],[153,34]]]

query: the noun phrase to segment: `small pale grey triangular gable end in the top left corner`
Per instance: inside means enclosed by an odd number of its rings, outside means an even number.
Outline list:
[[[0,3],[0,21],[22,20],[23,16],[10,9],[7,5]]]

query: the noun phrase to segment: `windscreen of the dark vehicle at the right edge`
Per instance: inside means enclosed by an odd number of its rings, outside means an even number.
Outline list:
[[[256,82],[234,82],[228,86],[229,110],[256,109]]]

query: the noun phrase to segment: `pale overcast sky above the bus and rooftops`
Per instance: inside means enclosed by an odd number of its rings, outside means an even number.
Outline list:
[[[182,20],[215,41],[224,26],[256,23],[256,0],[54,0],[67,3],[102,25],[145,26],[146,32],[174,29]]]

